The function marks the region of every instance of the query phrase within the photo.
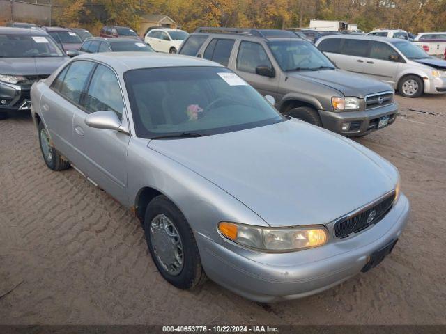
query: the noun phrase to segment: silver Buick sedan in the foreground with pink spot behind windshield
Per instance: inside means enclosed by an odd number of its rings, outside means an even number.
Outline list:
[[[73,58],[31,89],[43,159],[134,211],[161,275],[270,302],[375,267],[408,218],[392,164],[187,56]]]

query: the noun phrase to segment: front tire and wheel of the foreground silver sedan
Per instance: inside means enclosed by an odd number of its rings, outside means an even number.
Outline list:
[[[160,228],[160,225],[164,228]],[[161,234],[157,231],[161,231]],[[192,289],[206,281],[194,233],[185,216],[166,196],[157,196],[148,203],[144,215],[144,232],[153,262],[167,282],[178,289]],[[179,251],[178,244],[181,244],[182,251]],[[171,249],[166,252],[166,248]],[[181,265],[178,258],[182,258]],[[172,262],[175,263],[169,266]]]

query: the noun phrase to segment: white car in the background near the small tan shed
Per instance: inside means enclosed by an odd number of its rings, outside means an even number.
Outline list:
[[[189,34],[183,30],[160,28],[152,29],[144,38],[144,42],[152,47],[155,51],[169,52],[176,54],[180,49],[181,43]]]

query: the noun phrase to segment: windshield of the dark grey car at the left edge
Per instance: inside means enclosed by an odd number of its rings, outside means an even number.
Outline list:
[[[0,34],[0,58],[60,57],[63,51],[48,36]]]

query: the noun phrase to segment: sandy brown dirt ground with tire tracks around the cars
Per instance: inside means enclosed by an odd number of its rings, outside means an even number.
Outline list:
[[[0,324],[446,324],[446,96],[397,100],[397,122],[358,140],[399,168],[412,205],[392,255],[268,305],[164,282],[130,212],[49,170],[29,116],[0,121]]]

